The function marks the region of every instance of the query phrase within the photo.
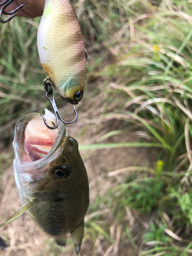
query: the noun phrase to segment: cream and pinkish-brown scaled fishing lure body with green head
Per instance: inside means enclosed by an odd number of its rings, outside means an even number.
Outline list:
[[[46,0],[37,33],[39,58],[54,88],[72,104],[86,79],[83,35],[70,0]]]

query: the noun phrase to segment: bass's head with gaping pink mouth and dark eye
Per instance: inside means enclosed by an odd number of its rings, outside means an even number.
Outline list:
[[[45,118],[49,125],[56,123],[47,110]],[[15,125],[13,147],[16,184],[28,197],[62,201],[83,179],[87,182],[78,143],[69,137],[61,121],[57,129],[50,130],[37,113],[20,118]]]

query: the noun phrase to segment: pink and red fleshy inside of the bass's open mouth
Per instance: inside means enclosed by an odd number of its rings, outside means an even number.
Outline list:
[[[56,123],[55,116],[45,110],[45,118],[49,125]],[[40,116],[32,118],[26,126],[24,136],[25,157],[23,163],[34,162],[45,157],[52,149],[58,129],[46,127]]]

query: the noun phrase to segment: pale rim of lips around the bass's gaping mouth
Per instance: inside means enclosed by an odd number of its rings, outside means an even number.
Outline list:
[[[22,118],[20,118],[16,125],[15,125],[15,136],[14,136],[14,151],[15,151],[15,168],[17,169],[18,173],[24,174],[31,172],[33,170],[40,169],[42,167],[45,167],[46,165],[49,165],[50,162],[52,162],[55,158],[57,158],[62,150],[62,144],[64,143],[67,139],[68,132],[65,129],[65,125],[59,120],[59,125],[58,125],[58,132],[57,136],[55,138],[55,141],[53,143],[53,146],[50,150],[50,152],[43,158],[29,162],[29,163],[19,163],[20,162],[20,154],[24,154],[25,152],[25,147],[24,147],[24,140],[25,140],[25,130],[27,127],[27,124],[33,119],[33,117],[40,117],[40,114],[38,113],[31,113],[28,114]],[[22,124],[22,125],[20,125]],[[23,126],[23,127],[20,127]],[[22,131],[20,131],[22,129]],[[64,138],[63,138],[64,137]],[[21,150],[20,150],[21,149]],[[17,150],[19,152],[17,152]]]

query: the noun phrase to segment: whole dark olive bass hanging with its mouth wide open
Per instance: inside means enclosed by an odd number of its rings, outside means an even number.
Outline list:
[[[56,122],[48,110],[49,124]],[[20,118],[13,141],[15,181],[22,206],[0,227],[28,210],[29,216],[59,245],[71,233],[76,253],[83,238],[84,215],[89,205],[89,183],[78,143],[59,120],[48,129],[37,113]]]

